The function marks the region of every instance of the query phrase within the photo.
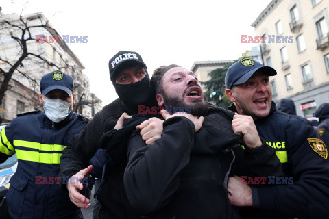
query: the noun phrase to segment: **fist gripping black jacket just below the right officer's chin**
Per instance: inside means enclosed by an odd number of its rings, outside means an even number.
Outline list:
[[[232,129],[238,135],[243,133],[243,141],[248,148],[252,149],[262,145],[251,116],[235,114],[232,120]]]

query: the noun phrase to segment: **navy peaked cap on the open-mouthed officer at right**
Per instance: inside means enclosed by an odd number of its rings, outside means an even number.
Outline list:
[[[228,72],[225,75],[226,88],[231,89],[234,85],[247,82],[257,70],[263,70],[262,72],[269,76],[276,75],[274,68],[263,66],[259,62],[245,57],[228,68]]]

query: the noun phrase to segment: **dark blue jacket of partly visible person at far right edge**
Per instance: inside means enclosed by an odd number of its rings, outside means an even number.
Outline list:
[[[319,109],[315,110],[315,117],[319,118],[317,131],[320,138],[329,144],[329,103],[323,103]]]

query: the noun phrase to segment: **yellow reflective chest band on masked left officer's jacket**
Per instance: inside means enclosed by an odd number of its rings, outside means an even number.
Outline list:
[[[17,159],[44,164],[60,164],[62,151],[66,146],[60,144],[40,144],[14,140]]]

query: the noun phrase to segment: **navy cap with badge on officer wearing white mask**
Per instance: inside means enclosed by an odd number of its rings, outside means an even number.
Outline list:
[[[69,96],[73,93],[73,78],[71,75],[62,73],[60,70],[44,75],[40,81],[40,90],[43,95],[47,95],[51,90],[64,90]]]

